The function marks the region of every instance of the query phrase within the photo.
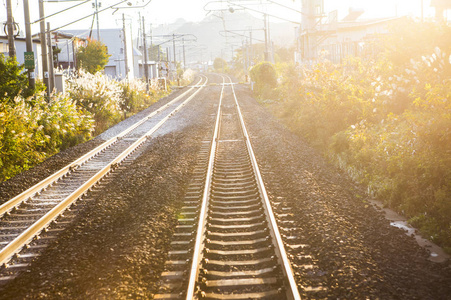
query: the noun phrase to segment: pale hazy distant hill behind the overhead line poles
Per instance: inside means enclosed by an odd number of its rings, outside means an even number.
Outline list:
[[[292,23],[272,23],[270,22],[271,40],[276,45],[290,46],[294,43],[294,28],[296,24]],[[249,30],[252,29],[253,43],[263,43],[264,41],[264,24],[263,19],[254,17],[246,12],[235,13],[217,13],[206,16],[201,22],[186,22],[178,19],[172,24],[159,25],[152,28],[152,42],[158,44],[167,41],[170,37],[162,37],[163,35],[175,34],[193,34],[197,37],[197,43],[186,43],[186,60],[189,61],[206,61],[215,57],[224,57],[230,60],[232,49],[241,47],[245,38],[249,37]],[[226,32],[233,31],[235,33]],[[147,31],[147,34],[149,32]],[[186,39],[192,39],[186,37]],[[180,46],[180,47],[179,47]],[[172,54],[172,41],[162,45],[163,49],[170,47],[170,55]],[[222,54],[222,55],[221,55]],[[181,58],[182,47],[181,42],[176,42],[177,60]]]

